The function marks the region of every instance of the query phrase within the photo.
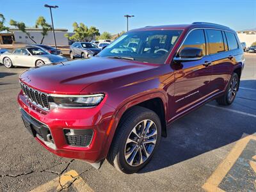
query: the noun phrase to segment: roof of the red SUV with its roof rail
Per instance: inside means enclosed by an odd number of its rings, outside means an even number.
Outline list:
[[[211,22],[193,22],[191,24],[176,24],[176,25],[164,25],[164,26],[145,26],[144,28],[132,29],[131,31],[150,31],[150,30],[163,30],[163,29],[192,29],[192,28],[215,28],[223,29],[227,31],[233,31],[227,26],[215,24]]]

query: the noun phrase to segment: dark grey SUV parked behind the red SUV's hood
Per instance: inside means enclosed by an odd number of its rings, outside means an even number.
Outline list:
[[[70,46],[70,58],[90,58],[101,51],[97,45],[89,42],[75,42]]]

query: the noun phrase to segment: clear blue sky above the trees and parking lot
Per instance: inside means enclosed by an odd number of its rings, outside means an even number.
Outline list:
[[[161,24],[216,22],[232,29],[256,28],[256,0],[0,0],[0,13],[10,19],[34,26],[44,16],[51,23],[44,4],[58,5],[53,10],[54,27],[72,31],[73,22],[96,26],[100,32],[118,33],[126,29],[124,15],[135,15],[129,28]]]

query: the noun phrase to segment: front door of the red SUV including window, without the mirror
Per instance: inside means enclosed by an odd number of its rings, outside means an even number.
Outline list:
[[[174,118],[193,108],[212,94],[208,88],[211,81],[211,68],[209,68],[211,56],[208,56],[206,52],[204,29],[191,31],[181,45],[179,52],[185,47],[200,48],[203,50],[204,56],[200,60],[173,64],[175,70],[175,105],[169,107],[175,108]],[[179,56],[179,52],[177,56]]]

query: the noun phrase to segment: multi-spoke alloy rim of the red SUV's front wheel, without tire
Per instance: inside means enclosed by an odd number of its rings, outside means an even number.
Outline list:
[[[157,141],[157,127],[152,120],[138,123],[129,134],[125,143],[125,161],[130,166],[139,166],[147,161]]]

